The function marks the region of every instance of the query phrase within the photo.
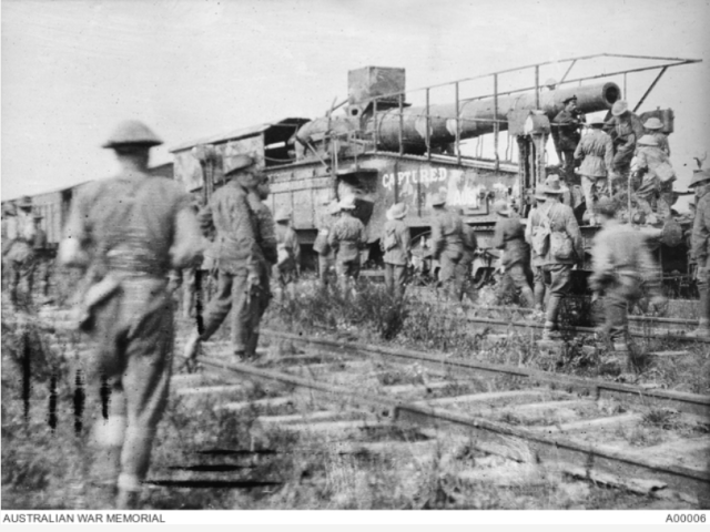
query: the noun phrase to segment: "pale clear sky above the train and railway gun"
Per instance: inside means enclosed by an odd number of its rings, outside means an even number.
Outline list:
[[[347,95],[347,71],[365,65],[405,68],[415,89],[604,52],[702,59],[669,69],[641,111],[676,112],[677,188],[688,184],[692,157],[710,153],[710,0],[1,6],[2,200],[110,176],[115,161],[100,146],[122,120],[139,119],[165,141],[153,151],[160,164],[185,141],[322,116]],[[632,104],[652,79],[629,76]]]

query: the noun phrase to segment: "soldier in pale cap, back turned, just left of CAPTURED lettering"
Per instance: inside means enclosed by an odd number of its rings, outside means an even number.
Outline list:
[[[328,245],[335,253],[335,272],[345,295],[359,276],[359,249],[367,245],[367,235],[363,223],[353,214],[354,197],[344,198],[339,208],[341,217],[328,234]]]

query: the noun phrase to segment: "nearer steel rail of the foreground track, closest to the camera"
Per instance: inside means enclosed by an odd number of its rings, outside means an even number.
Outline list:
[[[254,378],[317,390],[337,399],[375,407],[382,412],[386,407],[396,422],[447,428],[463,432],[471,444],[486,452],[501,454],[519,461],[555,461],[567,464],[585,464],[588,477],[604,471],[622,478],[641,478],[662,481],[672,490],[696,493],[700,501],[710,491],[710,472],[676,464],[653,463],[646,457],[629,456],[606,446],[580,443],[562,436],[547,436],[507,423],[465,416],[442,408],[408,403],[387,396],[362,393],[351,388],[333,386],[288,374],[254,368],[244,364],[230,364],[220,359],[203,358],[213,368],[229,370]],[[526,451],[521,452],[521,448]]]

